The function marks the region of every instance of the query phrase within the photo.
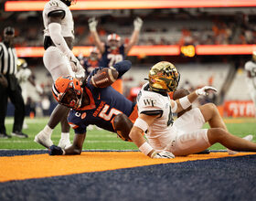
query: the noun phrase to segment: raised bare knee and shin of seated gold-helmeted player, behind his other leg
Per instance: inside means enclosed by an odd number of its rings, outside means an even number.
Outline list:
[[[205,121],[208,122],[211,128],[221,128],[228,131],[225,122],[221,118],[218,108],[213,103],[207,103],[199,107]]]

